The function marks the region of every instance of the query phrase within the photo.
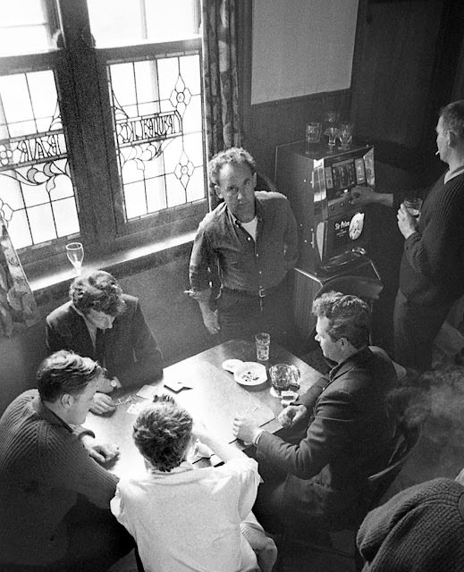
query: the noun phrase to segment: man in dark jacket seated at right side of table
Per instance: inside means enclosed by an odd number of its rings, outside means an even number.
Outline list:
[[[234,434],[256,446],[259,485],[254,512],[266,530],[318,532],[357,526],[370,498],[367,477],[387,466],[395,416],[387,395],[395,383],[392,361],[368,348],[366,302],[328,292],[313,303],[316,341],[336,362],[296,405],[283,409],[286,429],[268,433],[247,416]]]

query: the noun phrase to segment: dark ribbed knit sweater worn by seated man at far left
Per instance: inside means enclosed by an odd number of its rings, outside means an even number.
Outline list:
[[[0,419],[0,568],[61,559],[78,496],[109,511],[116,483],[37,390],[22,393]]]

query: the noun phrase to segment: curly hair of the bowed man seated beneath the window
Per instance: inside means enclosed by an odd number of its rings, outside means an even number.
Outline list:
[[[126,306],[121,286],[114,276],[104,270],[95,270],[75,278],[69,295],[74,307],[84,315],[94,309],[116,317],[122,314]]]

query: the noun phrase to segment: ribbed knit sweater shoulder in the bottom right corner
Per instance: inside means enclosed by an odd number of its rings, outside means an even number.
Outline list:
[[[363,572],[462,572],[463,495],[461,484],[439,478],[370,512],[357,539],[367,560]]]

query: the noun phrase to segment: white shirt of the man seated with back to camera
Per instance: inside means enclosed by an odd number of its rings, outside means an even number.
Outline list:
[[[111,510],[135,538],[146,572],[245,572],[257,559],[240,522],[258,484],[252,458],[198,469],[183,462],[169,473],[122,479]]]

